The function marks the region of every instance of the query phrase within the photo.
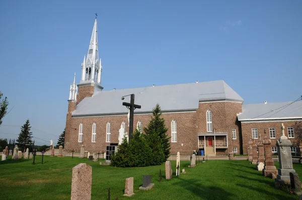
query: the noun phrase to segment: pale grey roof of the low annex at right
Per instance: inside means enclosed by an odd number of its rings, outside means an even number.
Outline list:
[[[280,102],[242,105],[239,121],[302,119],[302,102]]]

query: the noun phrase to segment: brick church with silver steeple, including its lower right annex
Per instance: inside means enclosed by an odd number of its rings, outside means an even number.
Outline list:
[[[302,102],[243,105],[244,99],[223,80],[192,82],[149,87],[103,90],[102,63],[98,54],[97,19],[89,44],[87,57],[82,63],[80,83],[69,89],[64,149],[80,152],[82,145],[89,152],[106,151],[119,142],[119,130],[129,129],[128,109],[121,98],[141,109],[134,111],[133,127],[143,133],[152,117],[152,109],[160,104],[171,137],[171,155],[179,151],[190,155],[223,156],[229,152],[247,154],[248,142],[272,141],[272,153],[277,153],[276,141],[285,136],[293,146],[292,154],[299,154],[297,133],[301,131]],[[300,126],[299,126],[300,124]],[[301,134],[301,133],[300,133]]]

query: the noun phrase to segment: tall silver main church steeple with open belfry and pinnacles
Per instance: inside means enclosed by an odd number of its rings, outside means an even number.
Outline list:
[[[82,63],[82,76],[81,76],[80,83],[95,82],[100,84],[101,82],[100,74],[101,74],[101,62],[99,61],[98,22],[96,19],[91,34],[87,58],[84,57],[84,61]]]

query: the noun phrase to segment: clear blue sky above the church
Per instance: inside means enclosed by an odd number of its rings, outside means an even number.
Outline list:
[[[224,80],[244,104],[301,94],[302,1],[0,1],[0,138],[65,127],[95,13],[105,90]],[[9,134],[4,134],[9,133]],[[37,139],[39,138],[39,139]]]

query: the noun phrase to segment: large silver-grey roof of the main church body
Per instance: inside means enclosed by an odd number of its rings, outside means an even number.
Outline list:
[[[122,102],[130,103],[130,96],[134,93],[134,104],[140,105],[134,113],[149,113],[160,104],[163,112],[194,111],[199,102],[229,100],[243,102],[237,94],[223,80],[185,83],[174,85],[150,86],[130,89],[103,90],[92,97],[84,98],[73,111],[72,116],[120,115],[128,110]]]

